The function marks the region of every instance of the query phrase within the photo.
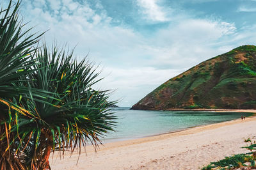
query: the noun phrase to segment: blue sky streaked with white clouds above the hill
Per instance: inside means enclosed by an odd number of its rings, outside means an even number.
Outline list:
[[[99,65],[95,88],[113,90],[119,106],[206,59],[256,45],[256,0],[23,0],[20,14],[33,33],[46,31],[49,47],[67,44]]]

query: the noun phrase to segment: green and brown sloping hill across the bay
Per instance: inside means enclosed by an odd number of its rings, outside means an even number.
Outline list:
[[[131,109],[256,109],[256,47],[243,45],[164,82]]]

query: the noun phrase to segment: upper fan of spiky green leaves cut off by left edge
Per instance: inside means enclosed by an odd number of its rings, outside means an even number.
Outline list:
[[[17,87],[13,82],[17,82],[19,77],[26,75],[30,66],[34,64],[30,54],[35,52],[36,48],[31,48],[38,42],[41,35],[30,34],[28,29],[23,31],[22,24],[17,17],[20,2],[12,10],[12,1],[10,1],[6,10],[0,11],[0,93],[1,98],[17,97],[19,93],[27,93],[28,88]]]

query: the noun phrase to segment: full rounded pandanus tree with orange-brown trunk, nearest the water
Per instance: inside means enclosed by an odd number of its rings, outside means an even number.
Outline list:
[[[24,146],[29,143],[25,147],[28,150],[24,150],[26,154],[20,153],[26,155],[23,162],[27,166],[50,169],[51,151],[81,150],[87,143],[97,148],[99,136],[113,130],[115,117],[109,106],[115,102],[108,102],[108,91],[92,88],[100,81],[96,79],[99,73],[95,73],[93,64],[86,59],[78,62],[72,59],[72,54],[64,50],[59,52],[57,47],[52,47],[49,52],[44,45],[36,53],[36,71],[29,73],[28,78],[24,77],[29,79],[31,88],[52,94],[52,98],[45,98],[44,102],[21,101],[22,107],[33,115],[33,121],[22,116],[22,126],[19,126],[19,132],[27,136],[24,139],[29,139],[23,143]]]

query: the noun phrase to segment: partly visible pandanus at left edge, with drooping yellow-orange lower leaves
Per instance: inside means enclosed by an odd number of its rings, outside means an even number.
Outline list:
[[[20,2],[13,7],[12,1],[8,7],[0,11],[0,167],[1,169],[20,169],[22,166],[13,157],[12,125],[18,114],[28,114],[28,111],[17,105],[15,98],[28,94],[30,89],[17,86],[19,77],[31,72],[30,67],[35,63],[30,54],[36,48],[32,45],[38,42],[39,36],[28,35],[29,30],[22,31],[24,25],[18,20],[17,13]],[[40,95],[40,91],[34,91]],[[45,93],[42,93],[45,94]]]

